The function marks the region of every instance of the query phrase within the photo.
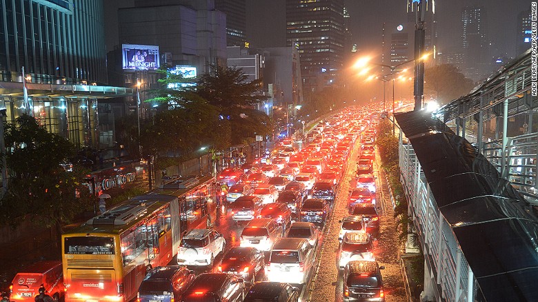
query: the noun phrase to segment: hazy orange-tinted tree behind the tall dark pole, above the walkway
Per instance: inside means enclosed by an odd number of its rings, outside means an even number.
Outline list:
[[[468,94],[473,87],[472,80],[450,64],[426,68],[424,71],[424,90],[435,97],[439,103],[448,103]]]

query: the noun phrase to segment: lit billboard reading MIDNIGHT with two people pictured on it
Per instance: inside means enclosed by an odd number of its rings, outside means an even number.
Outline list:
[[[124,70],[159,69],[159,46],[123,44],[121,53]]]

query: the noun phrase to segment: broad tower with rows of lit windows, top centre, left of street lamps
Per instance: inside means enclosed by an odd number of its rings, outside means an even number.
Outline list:
[[[299,47],[305,97],[335,83],[343,66],[343,0],[286,0],[286,41]]]

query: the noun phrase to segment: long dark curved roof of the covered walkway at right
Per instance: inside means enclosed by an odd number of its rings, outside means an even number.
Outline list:
[[[538,301],[538,219],[466,139],[426,112],[395,114],[486,301]]]

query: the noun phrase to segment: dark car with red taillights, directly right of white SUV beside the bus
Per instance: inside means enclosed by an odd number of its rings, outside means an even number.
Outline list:
[[[246,283],[254,284],[257,274],[263,272],[265,256],[255,248],[234,247],[224,254],[219,272],[241,276]]]

